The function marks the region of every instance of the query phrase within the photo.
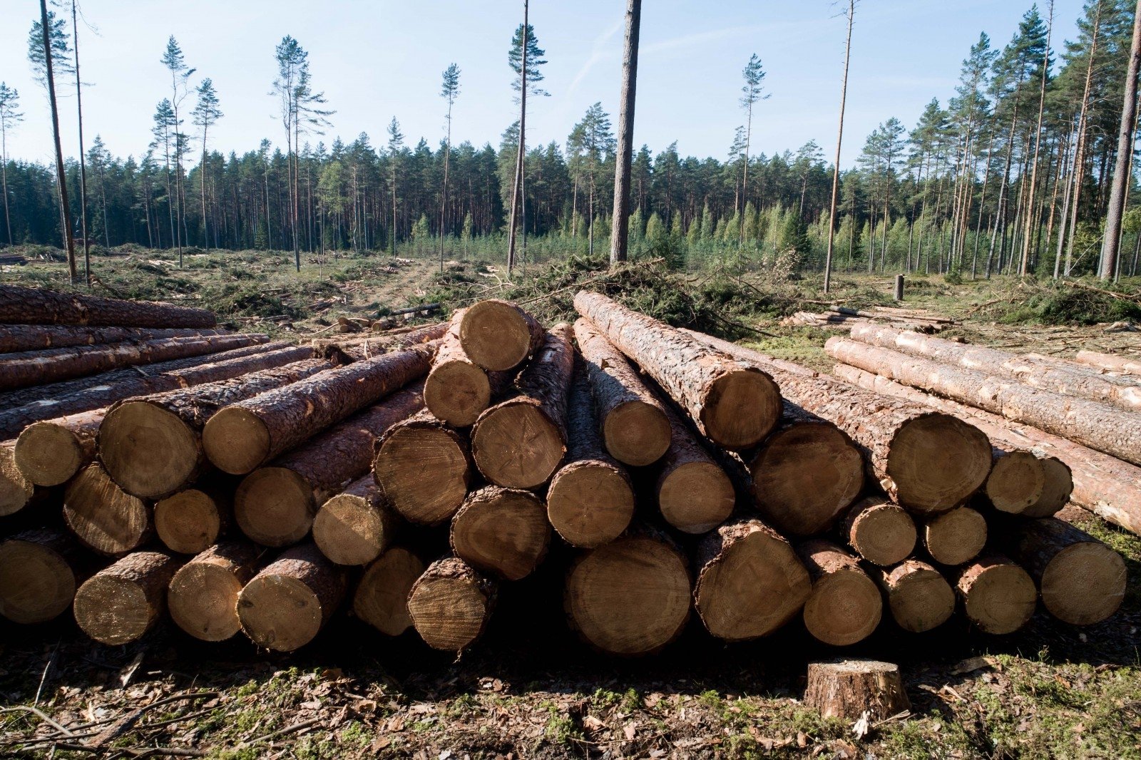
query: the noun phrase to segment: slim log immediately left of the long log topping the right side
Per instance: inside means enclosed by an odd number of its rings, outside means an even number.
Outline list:
[[[653,464],[670,448],[670,421],[662,403],[589,320],[578,318],[574,334],[585,359],[606,451],[623,464]]]

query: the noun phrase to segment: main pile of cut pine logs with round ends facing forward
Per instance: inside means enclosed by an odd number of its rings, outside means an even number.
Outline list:
[[[1042,447],[598,293],[575,307],[544,329],[485,300],[298,347],[2,289],[0,322],[49,324],[0,324],[0,613],[72,609],[120,645],[169,611],[288,652],[349,607],[459,652],[552,542],[569,624],[620,655],[691,611],[726,641],[801,616],[844,646],[888,617],[923,632],[961,607],[1010,633],[1039,598],[1078,625],[1120,604],[1122,558],[1052,517],[1073,484]]]

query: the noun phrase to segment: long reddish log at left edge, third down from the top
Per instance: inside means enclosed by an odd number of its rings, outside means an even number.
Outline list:
[[[6,356],[5,361],[0,362],[0,390],[59,382],[124,366],[217,354],[230,348],[268,341],[268,335],[207,335],[23,351]]]

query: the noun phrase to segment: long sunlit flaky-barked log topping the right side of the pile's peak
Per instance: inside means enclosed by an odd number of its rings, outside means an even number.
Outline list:
[[[737,362],[605,296],[580,291],[574,302],[578,313],[654,378],[714,443],[747,448],[779,422],[780,390],[761,369]]]

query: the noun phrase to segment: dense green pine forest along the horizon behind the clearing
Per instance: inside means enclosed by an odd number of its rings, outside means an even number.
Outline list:
[[[980,34],[954,97],[945,104],[932,99],[911,127],[887,119],[866,137],[857,165],[841,172],[835,267],[974,276],[1095,272],[1132,26],[1132,2],[1089,0],[1074,40],[1053,34],[1052,3],[1045,14],[1031,7],[1006,43]],[[57,87],[68,76],[74,87],[74,30],[52,17],[50,31]],[[528,95],[541,97],[547,62],[537,34],[529,26],[527,32]],[[30,34],[30,60],[40,71],[38,35],[39,22]],[[516,73],[523,38],[520,25],[508,56]],[[365,132],[326,144],[333,110],[311,82],[307,54],[285,38],[276,56],[284,148],[264,139],[256,149],[224,155],[210,146],[222,104],[211,81],[196,79],[175,38],[169,40],[161,65],[170,71],[171,89],[156,108],[148,151],[113,156],[96,135],[83,167],[67,162],[74,199],[86,169],[92,244],[440,256],[446,248],[450,257],[503,256],[518,122],[499,146],[453,145],[451,138],[412,145],[396,118],[382,144]],[[661,256],[679,267],[779,260],[790,268],[823,268],[832,167],[811,142],[795,152],[755,151],[752,127],[772,116],[759,105],[764,72],[755,56],[743,78],[745,126],[727,129],[723,160],[682,156],[675,144],[636,151],[631,254]],[[0,128],[29,128],[19,123],[21,94],[0,87]],[[518,82],[516,90],[518,97]],[[444,72],[442,97],[451,136],[451,106],[462,97],[455,65]],[[462,123],[456,127],[462,132]],[[561,144],[527,148],[524,260],[607,245],[614,161],[615,138],[601,104]],[[0,242],[59,245],[54,168],[7,155],[0,163]],[[1118,259],[1119,274],[1127,276],[1136,274],[1141,251],[1136,200],[1131,193]]]

